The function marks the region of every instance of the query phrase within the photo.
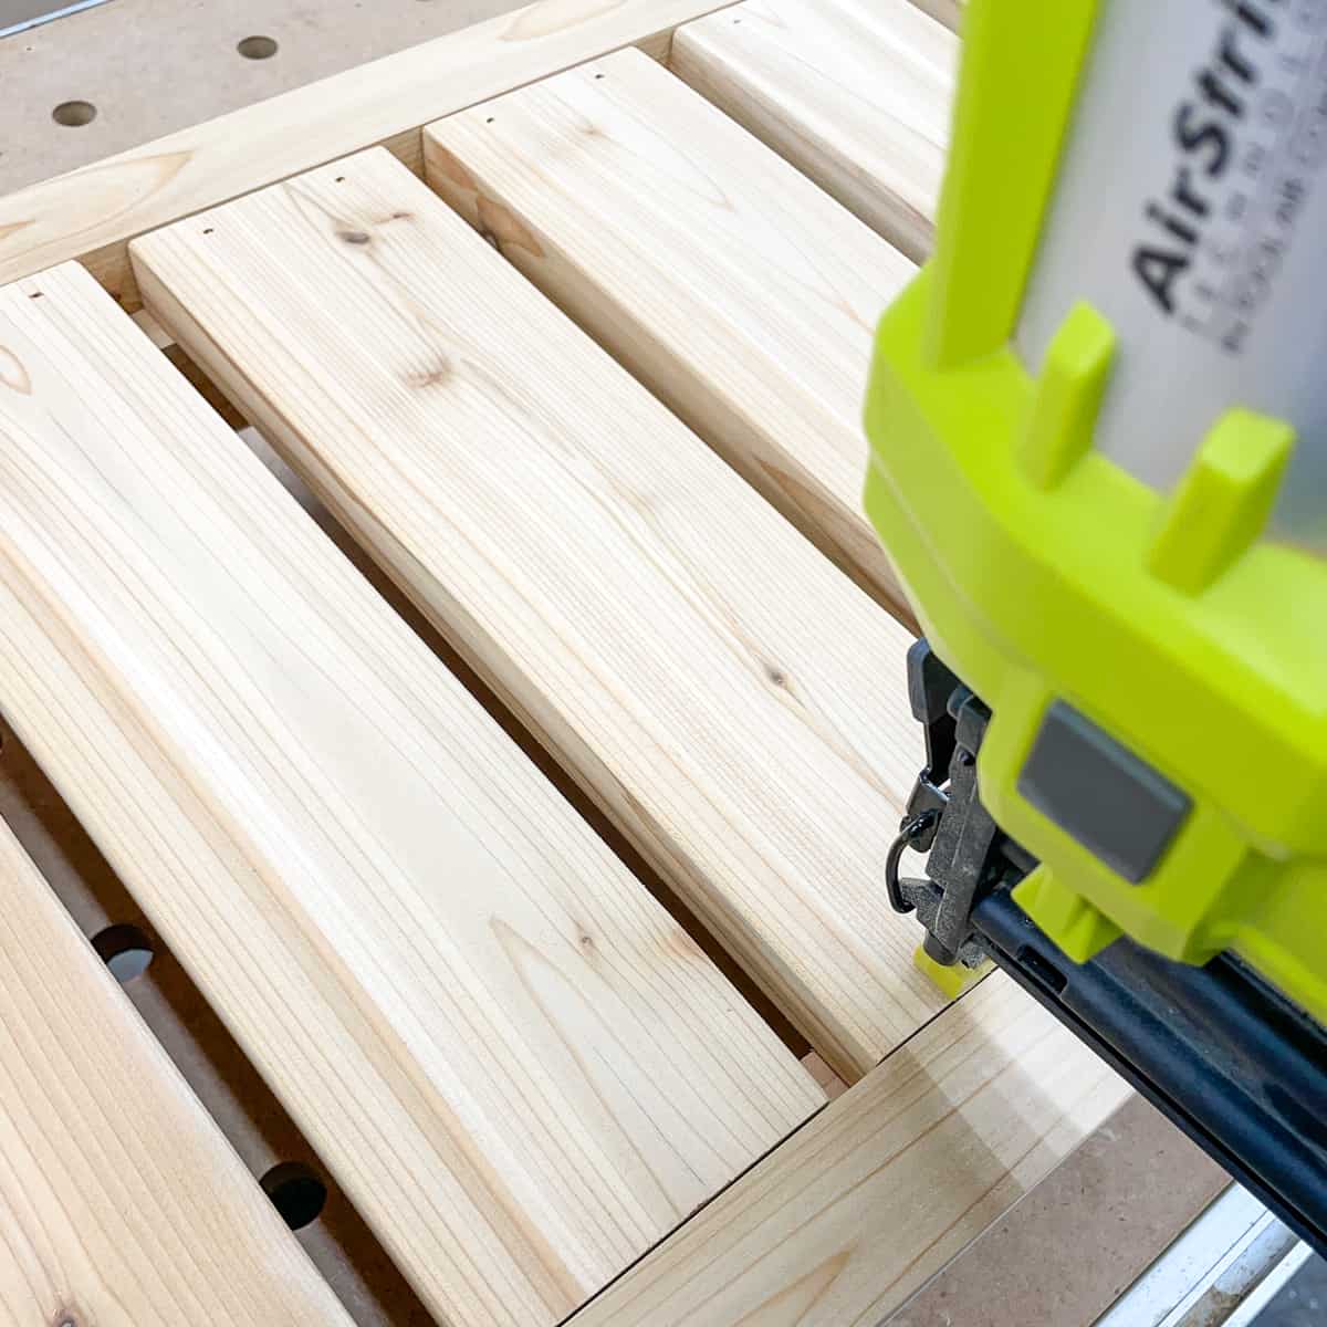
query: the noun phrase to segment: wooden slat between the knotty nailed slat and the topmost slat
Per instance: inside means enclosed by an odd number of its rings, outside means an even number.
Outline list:
[[[425,130],[429,183],[910,624],[861,512],[873,329],[913,265],[638,50]]]

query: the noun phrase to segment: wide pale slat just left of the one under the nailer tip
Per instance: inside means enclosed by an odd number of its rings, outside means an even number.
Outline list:
[[[7,718],[425,1302],[557,1320],[820,1091],[92,277],[0,346]]]

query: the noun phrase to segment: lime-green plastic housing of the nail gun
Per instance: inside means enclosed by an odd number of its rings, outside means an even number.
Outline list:
[[[865,507],[941,658],[990,705],[982,799],[1042,865],[1015,898],[1079,962],[1121,932],[1233,950],[1327,1023],[1327,561],[1265,536],[1292,431],[1234,410],[1174,492],[1092,450],[1089,307],[1011,345],[1096,0],[973,0],[937,248],[885,314]],[[1067,701],[1193,807],[1140,882],[1018,792]]]

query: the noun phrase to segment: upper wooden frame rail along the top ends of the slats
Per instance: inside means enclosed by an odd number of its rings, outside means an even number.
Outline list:
[[[0,283],[77,257],[135,309],[135,235],[376,143],[418,171],[421,125],[618,46],[664,56],[719,3],[537,0],[19,190],[0,199]]]

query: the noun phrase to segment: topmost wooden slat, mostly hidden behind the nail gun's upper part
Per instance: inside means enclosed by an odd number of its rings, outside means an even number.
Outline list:
[[[909,0],[746,0],[678,29],[670,68],[921,263],[958,38]]]

